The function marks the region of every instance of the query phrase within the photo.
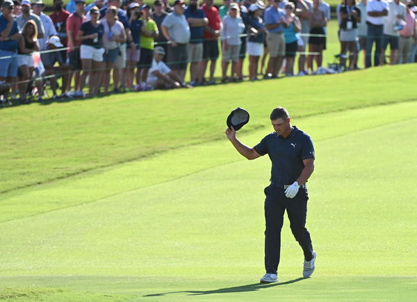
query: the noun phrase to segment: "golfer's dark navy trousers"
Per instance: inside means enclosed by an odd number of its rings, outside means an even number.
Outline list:
[[[277,273],[281,253],[281,228],[284,213],[290,220],[291,232],[304,252],[304,259],[313,258],[313,246],[309,231],[305,228],[307,215],[307,189],[300,188],[294,198],[287,198],[282,186],[265,188],[265,270]]]

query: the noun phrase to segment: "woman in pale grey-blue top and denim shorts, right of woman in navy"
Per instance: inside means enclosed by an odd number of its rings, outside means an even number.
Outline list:
[[[117,55],[120,53],[120,43],[126,41],[126,32],[122,22],[117,19],[117,8],[115,6],[107,8],[106,16],[101,19],[100,24],[104,27],[102,40],[105,64],[104,72],[102,73],[103,86],[104,93],[108,93],[111,70],[113,70]]]

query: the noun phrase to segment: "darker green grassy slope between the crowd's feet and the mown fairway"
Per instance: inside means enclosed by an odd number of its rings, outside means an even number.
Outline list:
[[[404,65],[2,110],[0,127],[10,131],[0,132],[0,192],[217,140],[236,106],[250,111],[257,129],[279,105],[300,117],[416,100],[402,88],[413,74],[415,66]]]

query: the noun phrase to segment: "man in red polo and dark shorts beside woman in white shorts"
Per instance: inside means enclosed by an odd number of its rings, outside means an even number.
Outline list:
[[[70,97],[85,97],[83,90],[81,90],[81,73],[80,70],[82,68],[81,65],[81,58],[80,58],[80,45],[81,40],[77,40],[76,36],[81,28],[81,24],[83,24],[86,20],[84,15],[84,6],[85,0],[77,0],[76,1],[76,10],[72,13],[67,19],[67,38],[68,38],[68,62],[74,68],[74,92],[69,93]],[[71,82],[72,75],[68,79]]]

